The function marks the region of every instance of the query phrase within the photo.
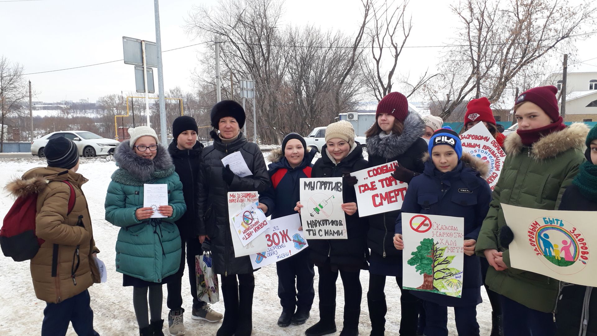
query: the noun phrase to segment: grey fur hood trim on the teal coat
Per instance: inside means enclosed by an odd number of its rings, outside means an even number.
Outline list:
[[[142,158],[135,154],[129,145],[130,140],[123,141],[114,153],[116,165],[136,176],[140,181],[147,181],[156,170],[168,170],[174,167],[168,148],[158,144],[158,149],[153,160]]]

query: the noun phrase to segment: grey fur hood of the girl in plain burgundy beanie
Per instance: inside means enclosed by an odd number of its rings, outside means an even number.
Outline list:
[[[406,152],[424,132],[423,119],[416,112],[409,111],[401,135],[370,136],[367,138],[367,152],[386,159],[395,158]]]

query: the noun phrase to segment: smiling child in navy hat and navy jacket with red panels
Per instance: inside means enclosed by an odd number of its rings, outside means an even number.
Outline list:
[[[300,179],[311,177],[311,161],[316,152],[316,148],[307,148],[303,137],[297,133],[285,136],[281,148],[270,152],[269,160],[272,163],[268,173],[272,187],[259,196],[259,207],[267,216],[271,215],[275,219],[296,213],[294,206],[300,200]],[[282,305],[278,325],[301,325],[309,318],[315,297],[315,270],[309,252],[303,251],[276,262],[276,271],[278,297]]]

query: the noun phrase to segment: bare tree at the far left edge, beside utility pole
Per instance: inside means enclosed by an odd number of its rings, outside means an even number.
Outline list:
[[[23,78],[23,66],[0,57],[0,152],[4,147],[7,118],[17,114],[20,103],[29,95],[27,81]]]

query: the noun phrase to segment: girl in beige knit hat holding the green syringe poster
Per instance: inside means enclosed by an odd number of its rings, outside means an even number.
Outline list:
[[[305,331],[307,336],[336,332],[336,280],[338,273],[344,287],[344,323],[341,336],[358,335],[362,288],[359,274],[367,269],[368,249],[365,241],[367,219],[359,218],[356,204],[356,178],[350,173],[369,166],[362,147],[355,142],[355,130],[348,121],[338,121],[325,130],[326,144],[322,157],[313,165],[313,178],[344,177],[342,209],[346,213],[347,239],[311,239],[310,256],[319,273],[319,322]],[[297,202],[294,210],[303,204]]]

